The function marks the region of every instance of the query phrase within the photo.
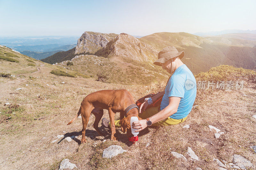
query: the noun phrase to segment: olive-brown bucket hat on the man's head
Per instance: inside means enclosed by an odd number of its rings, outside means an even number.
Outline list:
[[[168,46],[162,49],[158,53],[158,60],[156,60],[153,64],[156,64],[158,66],[162,66],[162,63],[167,62],[171,58],[180,56],[180,59],[184,57],[185,53],[184,51],[179,52],[175,47]]]

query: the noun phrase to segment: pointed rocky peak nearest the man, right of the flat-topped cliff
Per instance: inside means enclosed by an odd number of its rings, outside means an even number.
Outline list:
[[[95,55],[103,57],[119,56],[137,61],[154,61],[158,51],[149,44],[121,33],[116,39],[110,41],[105,48],[97,51]]]

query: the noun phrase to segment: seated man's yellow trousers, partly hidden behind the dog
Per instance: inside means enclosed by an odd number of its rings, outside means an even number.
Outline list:
[[[141,114],[139,114],[139,117],[142,119],[147,119],[148,117],[156,115],[159,111],[160,111],[160,106],[150,107],[150,108],[146,109],[144,112],[142,112]],[[156,123],[152,124],[152,126],[165,126],[165,125],[178,124],[178,123],[184,122],[186,119],[187,119],[187,117],[184,117],[183,119],[172,119],[172,118],[168,117],[160,122],[156,122]],[[116,127],[120,127],[121,126],[120,120],[116,120],[115,125],[116,125]],[[111,127],[110,122],[108,124],[108,127]]]

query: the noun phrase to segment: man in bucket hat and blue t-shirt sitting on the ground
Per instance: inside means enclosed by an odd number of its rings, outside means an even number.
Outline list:
[[[175,47],[169,46],[158,53],[158,60],[154,64],[162,66],[164,70],[171,74],[165,90],[154,97],[147,99],[141,104],[139,110],[140,121],[135,121],[132,126],[137,132],[147,126],[173,125],[184,122],[190,113],[196,99],[196,79],[188,67],[180,60],[185,55],[184,51],[178,52]],[[150,107],[149,104],[163,95],[161,105]],[[116,126],[120,126],[120,120],[115,121]],[[109,121],[102,119],[105,127]],[[135,132],[136,132],[135,131]]]

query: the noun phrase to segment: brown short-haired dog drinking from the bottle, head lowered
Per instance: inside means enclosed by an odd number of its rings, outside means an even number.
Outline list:
[[[98,127],[100,119],[103,116],[103,109],[108,110],[110,122],[111,122],[111,140],[116,141],[114,134],[116,133],[116,127],[114,122],[114,116],[116,112],[120,112],[120,124],[121,130],[125,133],[127,129],[127,136],[132,136],[130,120],[132,116],[137,116],[139,118],[139,112],[137,108],[132,108],[124,115],[124,110],[134,104],[133,97],[127,90],[100,90],[88,94],[81,103],[81,107],[75,116],[75,118],[70,121],[67,125],[71,124],[76,120],[76,118],[81,114],[83,129],[82,129],[82,143],[85,143],[85,129],[87,127],[89,118],[91,114],[95,115],[95,121],[92,127],[103,136]],[[125,118],[124,118],[125,116]],[[139,118],[141,120],[141,118]]]

